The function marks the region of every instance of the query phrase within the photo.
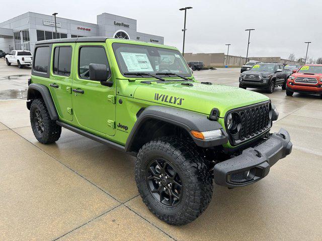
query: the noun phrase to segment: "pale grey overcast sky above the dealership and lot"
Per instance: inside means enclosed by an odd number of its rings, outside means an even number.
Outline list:
[[[0,22],[25,12],[36,12],[96,24],[96,16],[110,13],[137,20],[137,31],[165,37],[165,44],[182,50],[184,12],[187,11],[185,52],[246,56],[251,33],[250,57],[294,53],[305,57],[305,41],[311,41],[308,56],[322,57],[321,0],[215,1],[215,0],[54,0],[5,1]]]

